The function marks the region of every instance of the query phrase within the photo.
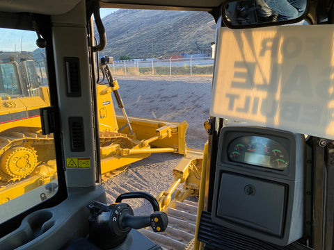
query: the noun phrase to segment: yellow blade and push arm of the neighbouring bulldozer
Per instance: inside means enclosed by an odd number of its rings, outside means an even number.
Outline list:
[[[100,132],[102,180],[106,181],[119,169],[146,158],[151,153],[186,154],[186,122],[166,122],[141,117],[128,117],[133,135],[129,135],[125,117],[116,115],[121,133]],[[110,177],[109,177],[110,176]]]

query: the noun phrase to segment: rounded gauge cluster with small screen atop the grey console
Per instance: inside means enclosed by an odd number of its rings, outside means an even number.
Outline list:
[[[235,163],[283,171],[289,166],[290,156],[289,149],[276,140],[264,136],[244,135],[230,142],[228,158]]]

